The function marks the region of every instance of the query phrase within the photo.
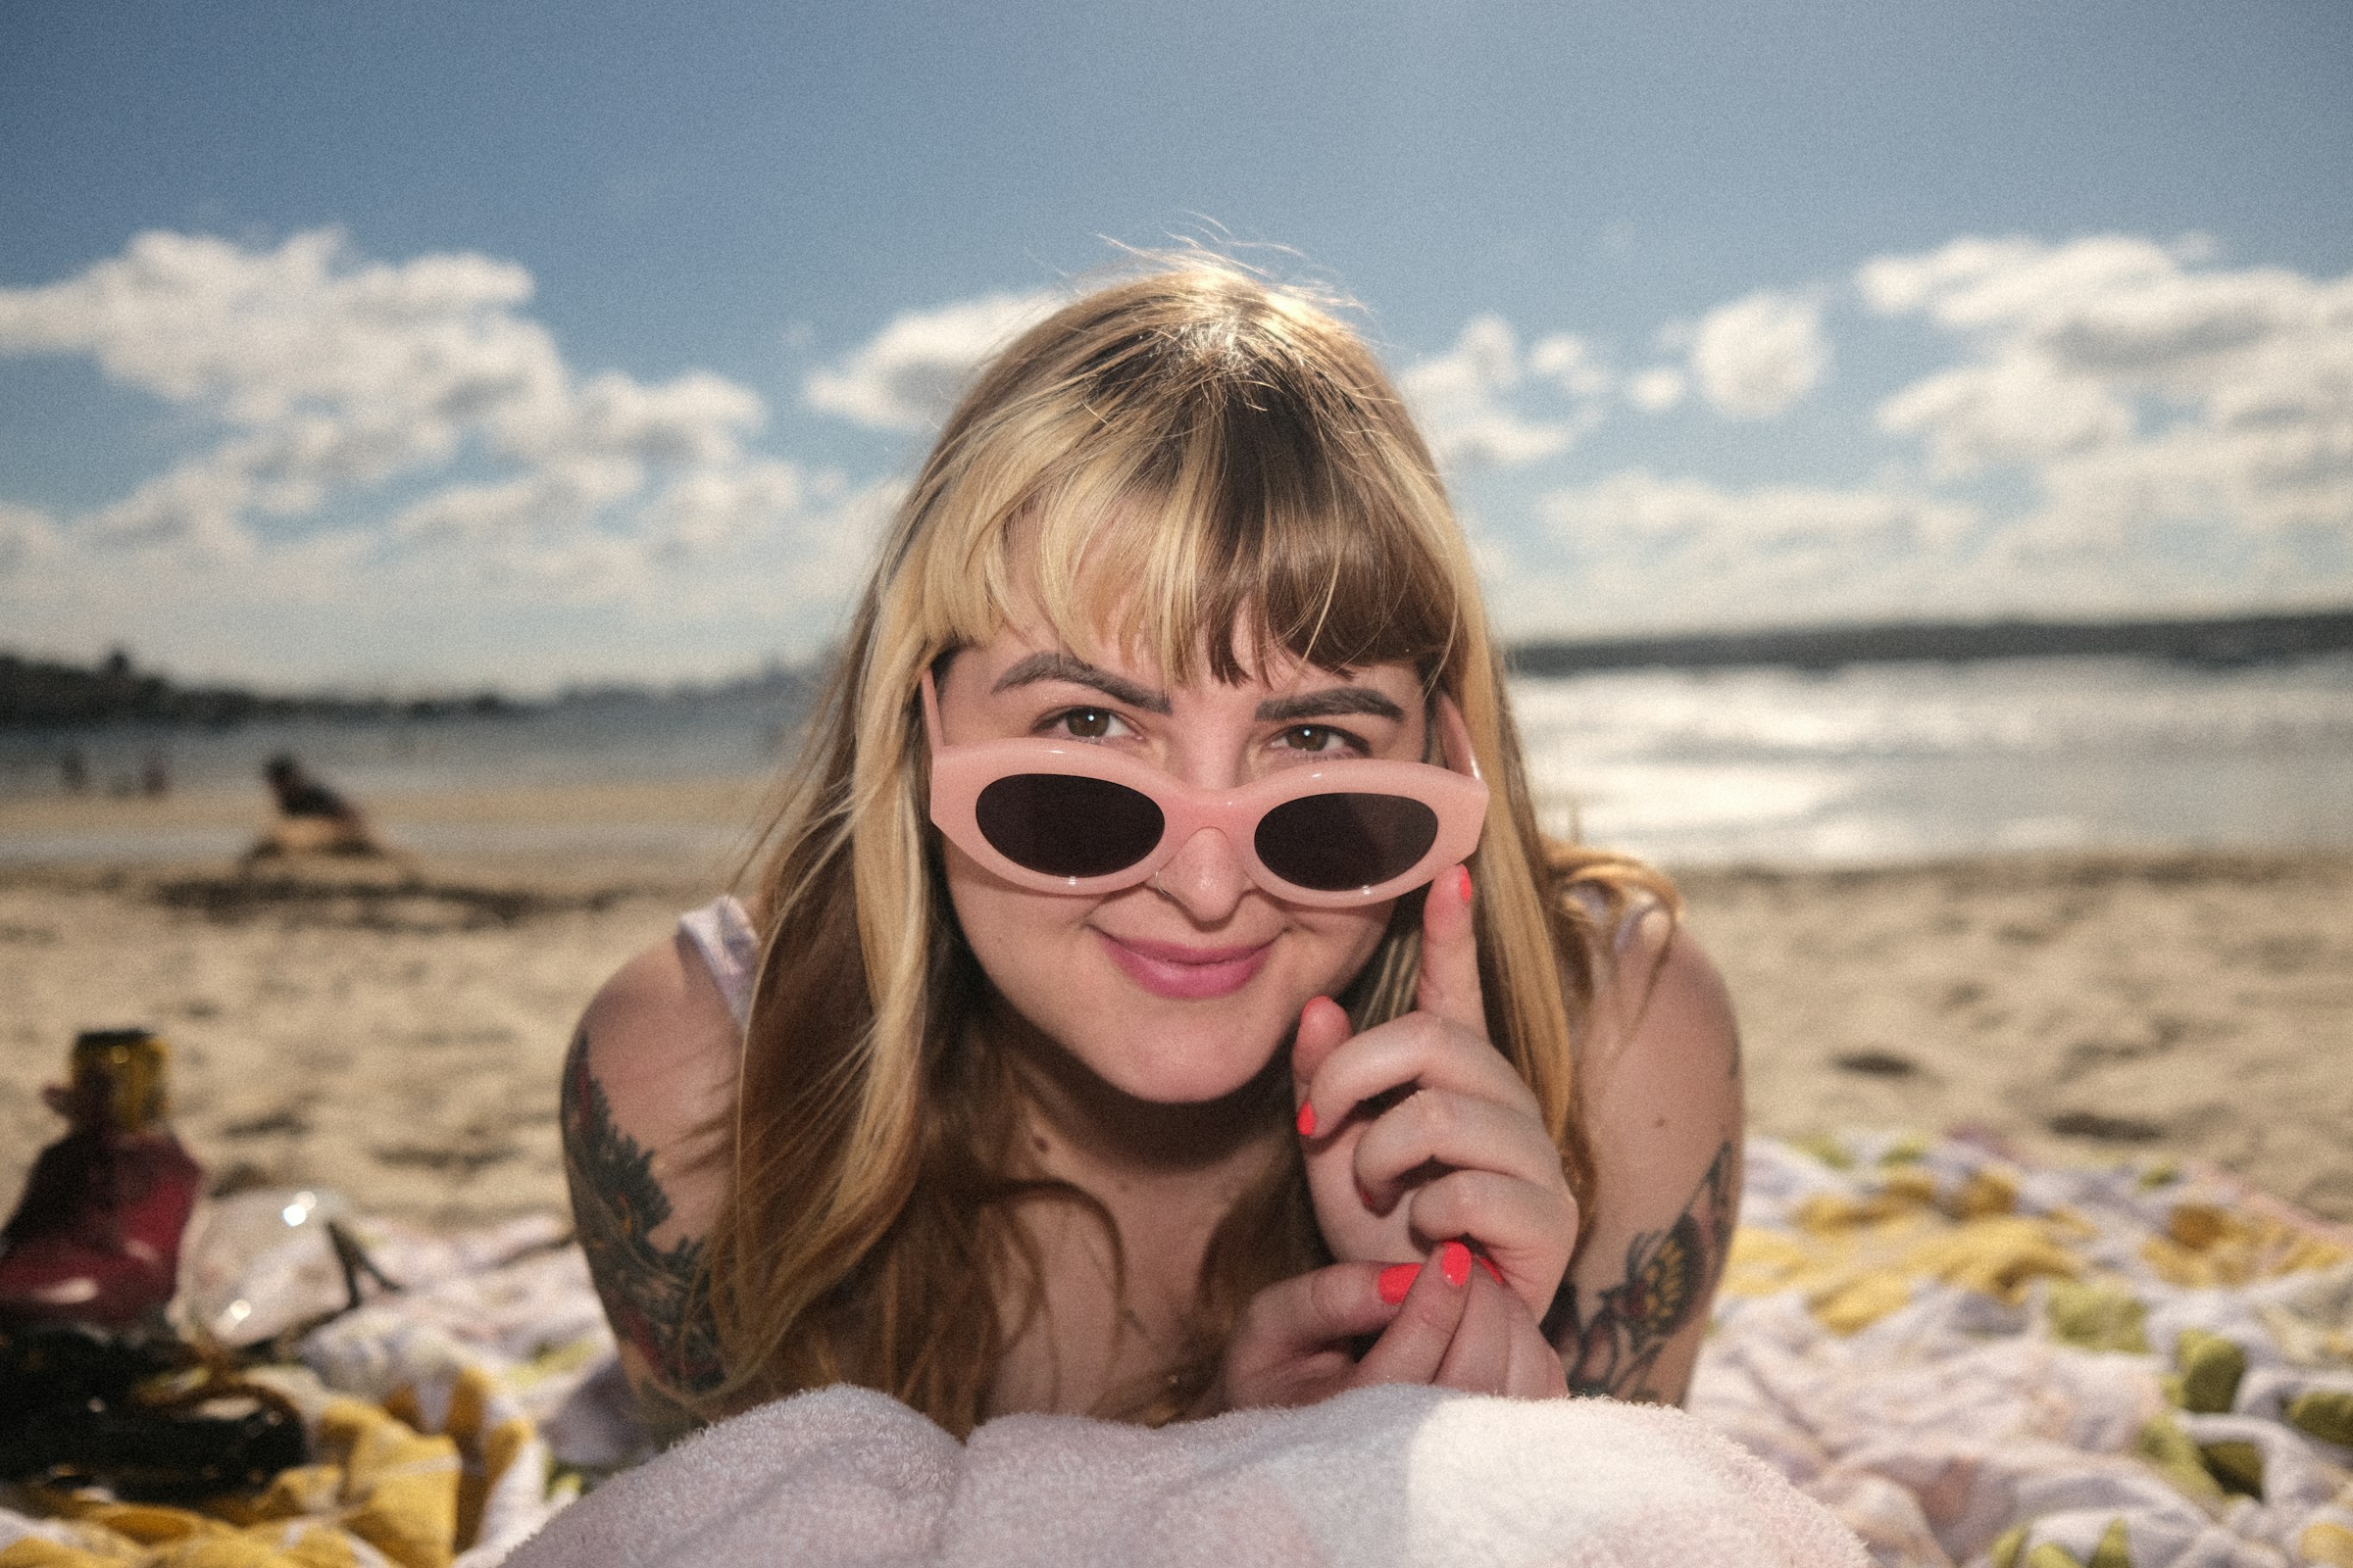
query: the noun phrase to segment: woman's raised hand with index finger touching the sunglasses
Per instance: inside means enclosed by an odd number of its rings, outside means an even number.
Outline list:
[[[1487,1041],[1466,867],[1440,872],[1424,900],[1414,1001],[1355,1037],[1327,997],[1299,1016],[1292,1084],[1315,1222],[1344,1262],[1419,1260],[1464,1239],[1541,1321],[1577,1244],[1577,1199],[1537,1095]]]

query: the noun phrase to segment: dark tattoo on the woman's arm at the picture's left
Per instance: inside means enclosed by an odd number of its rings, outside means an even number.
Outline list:
[[[671,1194],[654,1180],[654,1157],[612,1124],[605,1086],[588,1070],[588,1030],[572,1039],[565,1058],[560,1117],[572,1225],[614,1338],[645,1356],[666,1392],[718,1387],[722,1368],[704,1244],[689,1237],[659,1248],[647,1239],[671,1218]]]

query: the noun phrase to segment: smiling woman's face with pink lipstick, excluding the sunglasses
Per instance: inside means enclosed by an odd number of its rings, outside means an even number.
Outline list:
[[[1042,623],[1007,623],[939,682],[948,745],[1052,736],[1141,757],[1195,788],[1231,788],[1332,757],[1424,757],[1409,665],[1332,675],[1278,654],[1240,684],[1169,686],[1158,663],[1087,663]],[[1259,889],[1214,827],[1115,893],[1035,893],[941,846],[965,940],[998,994],[1104,1084],[1162,1105],[1249,1084],[1311,997],[1372,957],[1391,903],[1308,910]]]

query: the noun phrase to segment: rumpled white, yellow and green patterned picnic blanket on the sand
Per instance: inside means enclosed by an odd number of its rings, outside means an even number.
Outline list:
[[[1753,1138],[1746,1175],[1692,1413],[1875,1561],[2353,1568],[2344,1232],[2212,1171],[2031,1166],[1962,1138]],[[353,1229],[405,1288],[271,1373],[311,1465],[202,1512],[0,1497],[0,1568],[482,1568],[645,1455],[553,1218]],[[341,1291],[325,1248],[249,1272],[238,1300],[275,1321]]]

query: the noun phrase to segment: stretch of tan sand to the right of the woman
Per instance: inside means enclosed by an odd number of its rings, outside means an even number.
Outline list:
[[[1765,1133],[2188,1157],[2353,1220],[2353,856],[1682,879]]]

